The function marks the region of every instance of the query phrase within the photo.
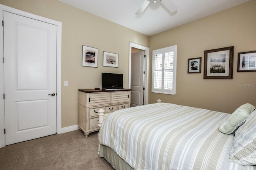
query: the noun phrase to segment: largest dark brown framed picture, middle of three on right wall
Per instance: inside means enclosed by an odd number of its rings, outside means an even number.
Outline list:
[[[234,46],[204,51],[204,79],[233,78]]]

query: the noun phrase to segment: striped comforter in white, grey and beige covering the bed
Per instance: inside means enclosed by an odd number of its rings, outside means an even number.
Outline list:
[[[98,139],[135,170],[256,170],[228,160],[234,134],[218,127],[230,114],[156,103],[110,114]]]

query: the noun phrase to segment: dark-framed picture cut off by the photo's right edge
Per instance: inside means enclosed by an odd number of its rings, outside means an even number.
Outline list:
[[[238,53],[237,72],[256,71],[256,51]]]

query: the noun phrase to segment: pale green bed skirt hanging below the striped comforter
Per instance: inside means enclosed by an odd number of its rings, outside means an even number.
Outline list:
[[[104,145],[100,145],[100,157],[103,157],[116,170],[134,170],[122,158],[120,158],[114,150]]]

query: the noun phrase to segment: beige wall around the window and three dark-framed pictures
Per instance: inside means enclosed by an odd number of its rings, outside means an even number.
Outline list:
[[[149,93],[163,102],[232,113],[245,103],[256,106],[256,72],[237,72],[238,53],[256,50],[256,0],[150,37],[152,50],[178,45],[176,95]],[[234,46],[233,79],[203,79],[204,51]],[[188,74],[188,59],[202,57],[200,74]],[[152,56],[150,57],[152,68]],[[151,81],[150,72],[150,81]],[[151,84],[150,84],[151,88]]]

